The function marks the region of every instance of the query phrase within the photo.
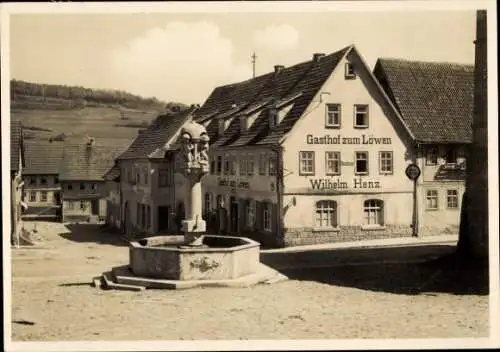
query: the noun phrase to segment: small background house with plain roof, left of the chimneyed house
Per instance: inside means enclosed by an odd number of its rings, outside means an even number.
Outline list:
[[[59,172],[64,143],[42,140],[25,142],[26,167],[23,172],[25,219],[60,219],[61,183]]]

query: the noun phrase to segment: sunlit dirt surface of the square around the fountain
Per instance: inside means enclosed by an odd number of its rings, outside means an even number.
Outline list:
[[[91,287],[92,278],[128,263],[126,243],[98,225],[36,226],[39,245],[12,250],[13,341],[467,338],[489,333],[488,296],[477,288],[478,283],[484,286],[484,275],[462,271],[460,277],[474,279],[460,283],[454,272],[432,265],[365,260],[353,266],[289,267],[282,270],[289,280],[248,288],[105,291]]]

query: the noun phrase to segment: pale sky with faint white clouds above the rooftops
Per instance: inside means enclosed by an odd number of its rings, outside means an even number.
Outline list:
[[[203,104],[219,86],[354,44],[377,58],[474,63],[475,11],[12,14],[11,78]]]

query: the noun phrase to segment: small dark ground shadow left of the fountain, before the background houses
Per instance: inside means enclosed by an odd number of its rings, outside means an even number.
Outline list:
[[[107,244],[120,247],[128,246],[128,243],[119,233],[110,231],[100,224],[67,224],[66,228],[69,232],[61,233],[59,236],[69,241]]]

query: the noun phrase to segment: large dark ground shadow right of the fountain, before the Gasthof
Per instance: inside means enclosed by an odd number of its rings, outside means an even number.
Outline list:
[[[454,255],[455,248],[428,245],[262,253],[261,261],[292,280],[407,295],[487,295],[487,264],[461,260]]]

